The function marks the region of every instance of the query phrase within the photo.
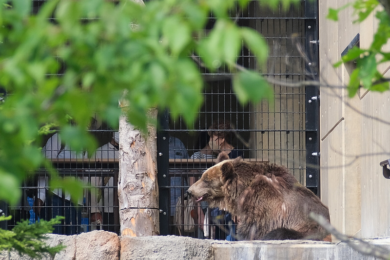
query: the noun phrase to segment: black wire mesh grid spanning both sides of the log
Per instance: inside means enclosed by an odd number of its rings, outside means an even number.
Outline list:
[[[33,12],[37,12],[44,2],[45,0],[33,0]],[[220,132],[228,133],[231,148],[234,147],[238,151],[236,155],[242,156],[245,160],[286,165],[297,180],[305,184],[306,94],[304,87],[289,85],[305,80],[308,75],[305,70],[304,50],[306,4],[307,2],[302,0],[289,8],[280,6],[270,9],[263,1],[252,0],[247,9],[241,10],[237,6],[230,13],[232,20],[240,26],[254,28],[267,41],[269,46],[267,62],[258,64],[254,53],[244,47],[237,55],[237,62],[240,66],[258,71],[271,82],[270,86],[274,92],[272,101],[240,104],[232,90],[232,75],[225,66],[210,72],[198,64],[205,79],[204,103],[199,110],[198,119],[191,125],[187,125],[181,118],[171,119],[167,130],[170,144],[172,142],[167,158],[170,184],[160,185],[160,188],[169,190],[169,207],[166,209],[169,222],[161,222],[160,226],[169,226],[169,234],[226,239],[233,229],[229,227],[229,223],[236,224],[238,221],[234,216],[226,217],[225,213],[212,212],[207,205],[195,204],[194,211],[185,211],[193,214],[194,230],[185,229],[183,225],[179,228],[180,225],[175,223],[177,199],[181,198],[183,201],[187,188],[200,178],[205,169],[215,163],[215,153],[210,145],[207,146],[210,141],[208,132],[213,122],[230,122],[230,129],[222,131],[217,127],[213,130],[216,135]],[[205,35],[214,22],[215,19],[211,15]],[[196,53],[193,55],[196,56]],[[113,130],[104,124],[90,131],[96,135],[101,146],[112,140]],[[48,136],[45,141],[50,137],[52,136]],[[42,143],[42,147],[44,145],[45,142]],[[116,158],[103,163],[92,158],[87,159],[85,154],[72,156],[70,149],[68,156],[64,155],[58,159],[62,151],[59,143],[57,146],[57,149],[51,150],[57,153],[57,156],[52,156],[53,159],[57,158],[54,167],[59,170],[60,176],[79,177],[84,180],[83,200],[72,204],[67,200],[67,195],[59,191],[56,195],[59,199],[57,198],[58,201],[54,203],[53,192],[47,190],[48,184],[45,180],[49,175],[45,170],[39,169],[36,179],[24,183],[20,205],[10,208],[16,218],[14,222],[9,223],[9,227],[12,228],[20,219],[28,218],[31,222],[38,220],[39,217],[49,219],[53,212],[59,210],[59,214],[68,212],[70,215],[70,222],[63,222],[59,226],[57,230],[59,234],[79,233],[97,228],[119,233]],[[207,156],[200,156],[202,153],[199,151]],[[103,155],[105,151],[101,153],[100,158],[110,158],[108,150],[107,155]],[[39,178],[43,178],[44,181],[39,182]],[[96,188],[88,192],[86,188],[91,183]],[[45,194],[45,201],[42,202],[46,204],[43,204],[42,211],[38,214],[38,211],[34,210],[36,209],[34,200],[39,198],[39,193]],[[103,215],[102,223],[91,225],[92,215],[97,212]],[[179,222],[183,223],[185,216],[184,214],[180,216]],[[232,234],[234,236],[234,232]]]

